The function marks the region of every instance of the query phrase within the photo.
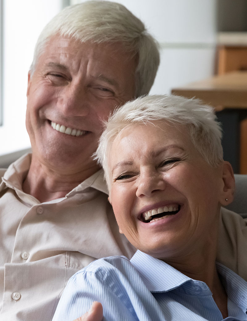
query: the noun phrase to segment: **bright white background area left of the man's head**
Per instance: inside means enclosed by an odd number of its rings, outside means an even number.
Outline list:
[[[0,155],[30,147],[25,128],[27,74],[36,40],[61,0],[4,1],[3,126]]]

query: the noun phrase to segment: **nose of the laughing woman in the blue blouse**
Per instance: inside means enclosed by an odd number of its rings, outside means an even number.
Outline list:
[[[144,172],[140,174],[138,179],[138,186],[136,190],[136,196],[152,196],[155,192],[165,190],[166,182],[163,179],[161,173],[157,171]]]

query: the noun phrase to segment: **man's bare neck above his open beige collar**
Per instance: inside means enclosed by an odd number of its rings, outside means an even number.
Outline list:
[[[70,171],[67,174],[65,168],[50,169],[32,159],[28,174],[23,181],[23,192],[34,196],[41,203],[58,199],[67,195],[98,169],[93,166],[77,172]]]

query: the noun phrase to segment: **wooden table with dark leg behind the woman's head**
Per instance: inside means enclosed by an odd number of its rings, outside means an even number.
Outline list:
[[[247,71],[234,71],[172,89],[215,108],[223,123],[223,149],[235,173],[247,174]],[[234,150],[234,152],[233,152]]]

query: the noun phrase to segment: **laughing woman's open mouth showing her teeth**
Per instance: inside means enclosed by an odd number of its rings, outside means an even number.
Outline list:
[[[142,221],[145,223],[159,221],[168,217],[170,215],[175,215],[179,212],[180,205],[171,204],[169,206],[160,206],[157,208],[153,208],[152,210],[146,211],[142,213]]]

